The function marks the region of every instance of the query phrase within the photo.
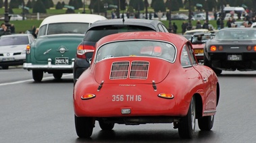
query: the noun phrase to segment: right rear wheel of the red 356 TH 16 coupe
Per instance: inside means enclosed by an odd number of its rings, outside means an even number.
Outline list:
[[[178,124],[178,133],[180,138],[193,138],[195,133],[195,124],[196,124],[196,109],[195,109],[195,100],[192,97],[188,109],[188,114],[182,118]]]

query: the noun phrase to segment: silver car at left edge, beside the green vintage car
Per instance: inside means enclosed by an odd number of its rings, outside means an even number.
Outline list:
[[[11,34],[0,37],[0,66],[22,65],[26,60],[26,46],[34,40],[32,34]]]

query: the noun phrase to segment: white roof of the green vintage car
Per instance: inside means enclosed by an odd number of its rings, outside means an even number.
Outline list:
[[[51,15],[49,17],[46,17],[41,25],[45,25],[48,23],[94,23],[98,20],[105,20],[106,17],[102,15],[96,15],[96,14],[82,14],[82,13],[70,13],[70,14],[59,14],[59,15]]]

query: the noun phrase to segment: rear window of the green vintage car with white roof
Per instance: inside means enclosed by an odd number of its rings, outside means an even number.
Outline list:
[[[85,34],[89,23],[50,23],[39,29],[39,36],[52,34]]]

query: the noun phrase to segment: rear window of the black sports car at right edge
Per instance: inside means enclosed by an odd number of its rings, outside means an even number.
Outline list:
[[[215,39],[219,40],[256,40],[256,30],[248,29],[232,29],[222,30],[216,33]]]

